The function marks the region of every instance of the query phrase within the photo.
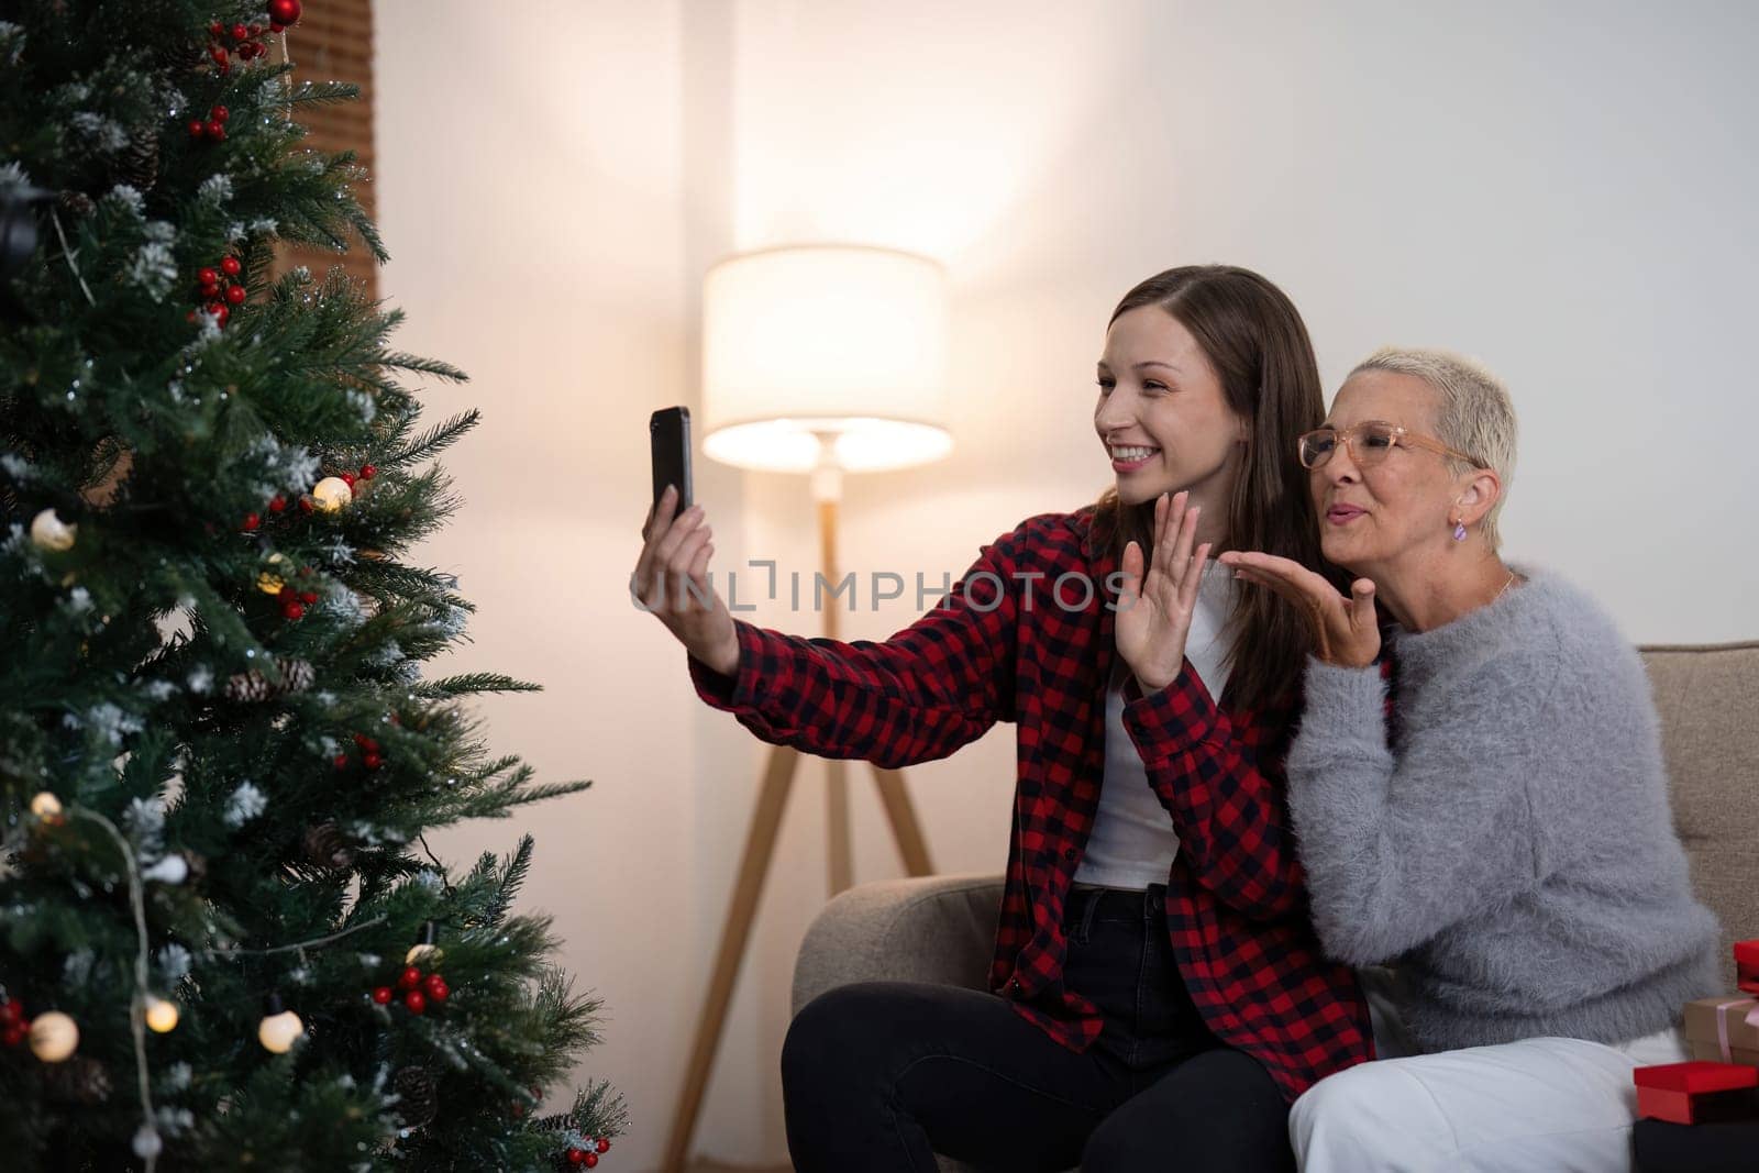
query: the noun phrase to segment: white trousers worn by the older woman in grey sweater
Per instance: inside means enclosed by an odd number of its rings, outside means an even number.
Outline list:
[[[1631,1069],[1685,1059],[1678,1031],[1379,1059],[1312,1085],[1289,1138],[1302,1173],[1627,1173]]]

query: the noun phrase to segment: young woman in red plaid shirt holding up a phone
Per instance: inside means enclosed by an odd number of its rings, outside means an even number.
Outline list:
[[[1203,575],[1219,547],[1316,565],[1286,438],[1321,410],[1270,281],[1143,281],[1099,359],[1115,487],[985,545],[883,644],[735,623],[702,508],[674,519],[661,498],[631,589],[702,698],[758,737],[904,767],[1018,726],[992,994],[862,983],[802,1009],[783,1052],[795,1168],[1282,1169],[1288,1103],[1370,1057],[1286,830],[1303,617]]]

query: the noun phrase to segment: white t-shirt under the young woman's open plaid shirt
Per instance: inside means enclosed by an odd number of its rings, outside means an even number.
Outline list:
[[[1198,603],[1186,635],[1186,659],[1196,668],[1208,695],[1221,700],[1228,686],[1223,658],[1228,642],[1223,626],[1233,610],[1235,582],[1226,566],[1210,563],[1198,584]],[[1105,779],[1099,784],[1099,812],[1094,816],[1087,849],[1075,869],[1075,883],[1105,888],[1147,888],[1164,885],[1179,855],[1173,816],[1161,805],[1149,774],[1142,767],[1129,732],[1124,728],[1124,681],[1129,668],[1115,661],[1105,698]]]

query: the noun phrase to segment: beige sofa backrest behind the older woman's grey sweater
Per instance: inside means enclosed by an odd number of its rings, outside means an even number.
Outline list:
[[[1645,647],[1660,712],[1673,823],[1692,856],[1697,899],[1731,941],[1759,937],[1759,644]]]

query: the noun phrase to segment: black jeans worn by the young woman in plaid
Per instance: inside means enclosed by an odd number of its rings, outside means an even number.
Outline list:
[[[1186,994],[1164,892],[1069,895],[1064,983],[1105,1015],[1080,1055],[978,990],[865,981],[807,1004],[781,1055],[795,1169],[1293,1169],[1282,1094]]]

